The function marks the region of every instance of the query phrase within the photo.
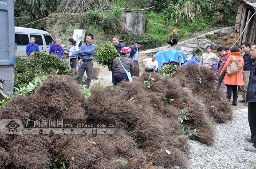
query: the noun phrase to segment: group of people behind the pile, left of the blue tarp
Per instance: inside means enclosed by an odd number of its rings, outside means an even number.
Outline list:
[[[30,43],[26,48],[26,53],[28,56],[33,56],[34,52],[39,52],[39,46],[35,43],[35,41],[35,37],[30,38]],[[88,34],[86,37],[86,43],[83,43],[79,48],[76,41],[73,38],[69,38],[68,42],[70,44],[70,48],[65,48],[64,45],[61,45],[60,39],[56,38],[53,44],[50,46],[48,53],[59,56],[59,59],[64,59],[63,55],[67,53],[70,60],[70,67],[77,71],[76,81],[78,84],[82,84],[83,75],[86,72],[87,88],[89,88],[91,85],[93,58],[96,49],[96,46],[92,43],[93,41],[94,36],[92,34]],[[120,56],[114,60],[113,66],[108,67],[109,71],[112,72],[113,86],[116,86],[121,83],[122,80],[131,81],[131,78],[129,80],[129,76],[139,76],[140,71],[138,53],[143,42],[137,41],[134,45],[125,47],[125,44],[120,42],[120,38],[118,36],[114,36],[112,42],[117,50],[117,53],[120,54]],[[77,58],[80,60],[79,65],[77,63]],[[153,55],[151,58],[143,60],[145,71],[158,72],[158,61],[155,59],[156,55]],[[135,73],[131,74],[130,72],[134,70],[134,64],[137,65],[137,68],[134,71]]]

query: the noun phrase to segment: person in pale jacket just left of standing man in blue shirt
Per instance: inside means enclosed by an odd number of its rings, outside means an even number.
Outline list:
[[[76,45],[76,41],[73,38],[69,38],[68,41],[71,45],[70,49],[63,48],[63,50],[66,50],[68,52],[70,67],[76,70],[76,53],[79,51],[79,48],[78,45]]]

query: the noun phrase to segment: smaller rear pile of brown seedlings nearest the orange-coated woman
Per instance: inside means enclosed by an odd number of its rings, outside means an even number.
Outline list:
[[[178,68],[172,76],[181,86],[189,88],[194,98],[202,101],[206,113],[216,122],[232,120],[229,102],[226,101],[226,95],[215,87],[216,74],[212,70],[189,64]]]

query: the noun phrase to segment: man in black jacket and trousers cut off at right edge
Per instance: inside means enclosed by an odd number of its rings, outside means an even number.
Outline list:
[[[251,59],[256,60],[256,43],[251,47]],[[251,137],[245,137],[252,146],[244,147],[244,150],[256,153],[256,61],[252,63],[251,73],[247,86],[246,102],[248,102],[248,122],[251,130]]]

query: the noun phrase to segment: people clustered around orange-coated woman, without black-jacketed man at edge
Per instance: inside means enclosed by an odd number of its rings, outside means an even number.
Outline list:
[[[224,88],[227,90],[227,99],[230,100],[233,94],[232,105],[237,105],[237,91],[240,88],[242,94],[242,100],[238,102],[244,102],[244,106],[248,106],[248,102],[246,101],[246,93],[248,80],[250,75],[250,70],[252,67],[252,63],[254,60],[250,57],[251,45],[248,42],[244,42],[242,45],[232,48],[227,48],[221,46],[217,49],[217,53],[219,57],[212,53],[212,46],[209,45],[206,48],[206,52],[202,54],[199,66],[216,69],[219,68],[217,88],[221,88],[221,84],[224,82]],[[233,75],[228,75],[226,73],[227,66],[233,61],[232,56],[235,57],[236,60],[239,60],[240,65],[243,66],[241,71]]]

